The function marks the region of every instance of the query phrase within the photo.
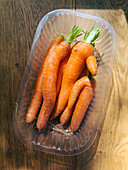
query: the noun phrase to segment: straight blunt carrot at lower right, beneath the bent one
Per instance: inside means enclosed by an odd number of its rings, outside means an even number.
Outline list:
[[[76,106],[73,112],[73,116],[71,119],[71,124],[70,124],[70,128],[72,132],[75,132],[79,128],[82,122],[82,119],[85,115],[85,112],[92,100],[94,90],[96,87],[96,81],[93,79],[91,82],[92,82],[92,86],[91,87],[85,86],[83,90],[81,91],[79,98],[77,100],[77,103],[76,103]]]

